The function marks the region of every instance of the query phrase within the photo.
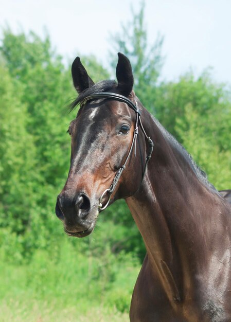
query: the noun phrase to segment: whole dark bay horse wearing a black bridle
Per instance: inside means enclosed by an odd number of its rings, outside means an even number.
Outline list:
[[[80,109],[57,216],[69,236],[84,237],[99,212],[126,200],[147,249],[132,322],[231,321],[230,191],[219,193],[144,108],[129,60],[118,57],[117,83],[94,84],[79,58],[72,65]]]

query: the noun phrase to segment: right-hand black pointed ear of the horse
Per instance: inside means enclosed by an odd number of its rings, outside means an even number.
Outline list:
[[[130,64],[129,59],[121,52],[118,52],[116,78],[118,81],[118,90],[123,95],[128,96],[132,92],[132,87],[134,82],[133,74],[132,74],[132,66]]]

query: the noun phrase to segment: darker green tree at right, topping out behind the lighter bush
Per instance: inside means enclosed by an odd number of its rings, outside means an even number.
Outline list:
[[[179,81],[162,83],[158,87],[155,102],[155,116],[166,129],[182,142],[182,136],[175,130],[176,119],[181,119],[189,128],[185,107],[192,106],[201,118],[201,124],[207,125],[211,138],[219,141],[221,149],[230,150],[230,90],[227,85],[212,80],[209,70],[198,78],[192,71],[181,76]],[[210,138],[210,139],[211,139]]]

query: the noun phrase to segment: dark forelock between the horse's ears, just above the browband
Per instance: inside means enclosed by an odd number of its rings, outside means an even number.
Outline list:
[[[70,104],[70,111],[73,111],[75,107],[87,96],[99,92],[109,92],[112,88],[116,88],[117,83],[114,80],[103,80],[95,85],[87,88],[85,91],[79,94],[79,96]]]

